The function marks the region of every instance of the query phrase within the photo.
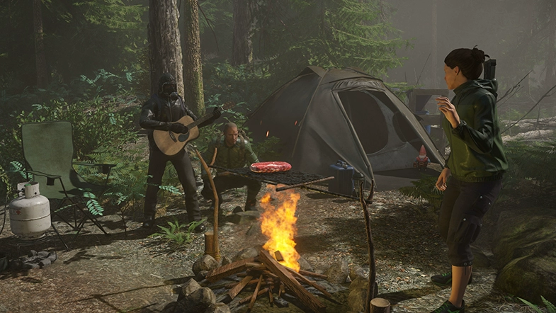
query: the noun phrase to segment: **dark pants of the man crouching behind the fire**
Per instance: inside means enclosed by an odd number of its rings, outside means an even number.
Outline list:
[[[247,186],[245,209],[249,210],[249,207],[256,205],[256,196],[262,187],[260,181],[254,181],[253,179],[236,175],[216,176],[213,180],[215,182],[216,192],[218,195],[218,203],[222,204],[223,191]],[[210,187],[210,183],[208,181],[205,181],[205,186],[203,187],[201,194],[208,200],[212,200],[214,198],[214,193],[212,193],[212,188]]]

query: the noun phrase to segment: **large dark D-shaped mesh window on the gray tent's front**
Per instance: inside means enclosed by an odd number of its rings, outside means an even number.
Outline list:
[[[361,91],[339,92],[344,110],[356,130],[366,154],[380,151],[388,143],[388,127],[373,97]]]

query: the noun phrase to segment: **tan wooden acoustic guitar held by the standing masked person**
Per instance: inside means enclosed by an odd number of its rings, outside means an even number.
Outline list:
[[[232,101],[228,101],[227,103],[224,103],[222,110],[227,110],[229,108],[233,108],[234,106],[235,104]],[[212,118],[212,116],[214,116],[214,113],[210,113],[202,118],[193,120],[191,116],[185,115],[183,118],[180,118],[174,123],[186,125],[188,132],[180,134],[178,132],[172,132],[171,130],[154,130],[152,137],[154,137],[154,142],[157,144],[157,147],[162,153],[172,156],[180,152],[183,147],[186,147],[188,142],[197,139],[199,137],[199,127],[197,126],[200,123],[205,122],[205,120]]]

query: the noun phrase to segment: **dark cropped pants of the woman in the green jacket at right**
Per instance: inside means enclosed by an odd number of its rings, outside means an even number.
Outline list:
[[[492,206],[502,188],[502,180],[466,183],[451,177],[442,200],[438,229],[448,245],[448,259],[453,266],[470,266],[470,244],[477,239],[482,217]]]

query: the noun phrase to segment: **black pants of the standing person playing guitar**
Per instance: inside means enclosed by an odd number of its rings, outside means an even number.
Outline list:
[[[191,165],[191,159],[186,150],[174,156],[167,156],[162,153],[158,148],[152,147],[149,155],[149,177],[147,179],[147,193],[144,197],[144,217],[154,217],[157,210],[157,193],[159,186],[162,182],[162,175],[166,169],[166,163],[171,161],[172,165],[178,172],[178,179],[186,193],[186,209],[189,222],[200,220],[199,203],[197,200],[197,186],[195,185],[195,172]]]

